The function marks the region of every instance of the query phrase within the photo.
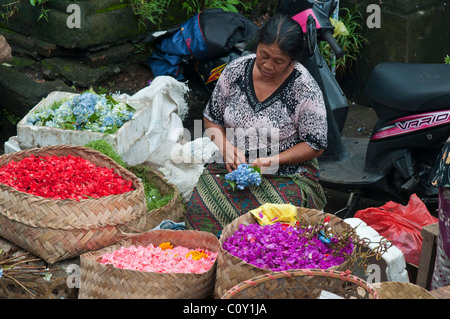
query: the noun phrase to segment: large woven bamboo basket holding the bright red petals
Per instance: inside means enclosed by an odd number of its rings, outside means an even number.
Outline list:
[[[102,153],[72,145],[48,146],[0,156],[0,166],[35,156],[82,157],[112,168],[132,181],[133,191],[96,199],[56,200],[0,184],[0,236],[53,264],[123,239],[128,227],[144,230],[146,203],[142,182]]]

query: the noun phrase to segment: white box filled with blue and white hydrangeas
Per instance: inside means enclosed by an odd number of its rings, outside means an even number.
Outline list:
[[[21,149],[30,149],[104,139],[124,156],[149,129],[150,104],[93,92],[52,92],[17,124],[17,140]]]

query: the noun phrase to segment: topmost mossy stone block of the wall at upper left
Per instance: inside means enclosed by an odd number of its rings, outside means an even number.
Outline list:
[[[67,23],[68,20],[73,21],[70,16],[75,11],[68,10],[69,5],[73,4],[79,7],[79,27]],[[66,49],[114,45],[142,33],[128,1],[52,0],[45,3],[44,8],[49,10],[48,18],[38,21],[41,7],[21,1],[17,13],[3,27]]]

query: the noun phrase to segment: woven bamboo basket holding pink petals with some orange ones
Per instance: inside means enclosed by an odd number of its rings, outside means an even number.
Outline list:
[[[205,273],[154,273],[119,269],[97,262],[105,253],[131,245],[174,246],[219,251],[219,241],[211,233],[195,230],[153,230],[110,247],[81,255],[79,299],[202,299],[214,292],[216,265]]]

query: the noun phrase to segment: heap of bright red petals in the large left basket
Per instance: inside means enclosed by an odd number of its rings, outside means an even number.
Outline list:
[[[81,157],[35,156],[0,167],[0,183],[53,199],[99,198],[133,190],[113,169],[97,167]]]

